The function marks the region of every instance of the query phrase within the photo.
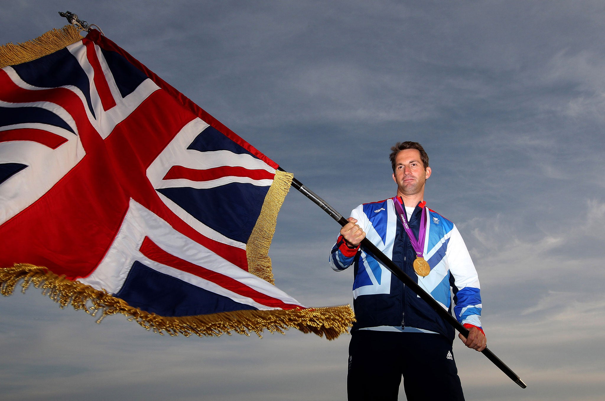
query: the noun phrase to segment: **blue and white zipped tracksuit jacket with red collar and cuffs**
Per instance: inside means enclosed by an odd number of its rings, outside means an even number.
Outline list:
[[[366,237],[400,266],[428,294],[454,313],[460,323],[481,328],[481,295],[473,260],[454,223],[427,208],[424,258],[431,267],[427,277],[414,272],[414,249],[397,217],[394,199],[359,205],[351,216]],[[409,221],[418,233],[422,209],[417,205]],[[454,329],[364,249],[347,248],[342,236],[332,248],[330,266],[342,271],[354,266],[353,306],[357,321],[353,330],[368,327],[413,327],[440,333],[453,341]]]

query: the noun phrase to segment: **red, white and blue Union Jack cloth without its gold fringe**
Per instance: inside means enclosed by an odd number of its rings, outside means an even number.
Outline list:
[[[91,30],[0,70],[0,267],[160,316],[306,310],[249,268],[276,168]]]

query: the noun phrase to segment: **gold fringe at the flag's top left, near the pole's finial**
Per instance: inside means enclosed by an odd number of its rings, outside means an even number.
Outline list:
[[[39,59],[61,50],[71,45],[71,43],[76,43],[78,40],[82,40],[80,31],[74,28],[73,25],[65,25],[60,30],[53,29],[28,42],[19,43],[18,45],[7,43],[0,46],[0,68]]]

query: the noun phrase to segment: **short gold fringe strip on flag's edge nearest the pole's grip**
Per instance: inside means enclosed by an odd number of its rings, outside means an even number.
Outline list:
[[[257,223],[254,225],[246,244],[248,271],[265,281],[269,281],[271,284],[275,284],[275,280],[273,280],[273,273],[271,271],[269,246],[271,246],[271,240],[273,239],[273,234],[275,234],[277,214],[284,203],[286,195],[290,191],[293,178],[294,175],[292,173],[276,170],[273,184],[271,184],[265,197],[263,208],[261,208],[261,214],[258,216]]]

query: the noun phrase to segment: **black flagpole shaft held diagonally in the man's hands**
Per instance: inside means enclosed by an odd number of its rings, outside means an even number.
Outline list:
[[[286,172],[281,167],[278,167],[278,170],[282,172]],[[344,226],[348,223],[347,219],[345,219],[342,214],[338,213],[335,208],[330,206],[327,202],[325,202],[321,197],[319,197],[312,190],[303,185],[298,179],[292,179],[292,187],[296,188],[300,193],[304,196],[308,197],[311,201],[315,202],[325,213],[329,214],[332,219],[336,220],[341,226]],[[397,276],[399,280],[403,281],[405,285],[407,285],[411,290],[413,290],[420,298],[422,298],[431,308],[437,312],[439,316],[445,319],[454,329],[458,330],[460,334],[468,338],[468,329],[462,326],[459,321],[457,321],[454,316],[451,315],[448,310],[444,309],[437,301],[431,297],[422,287],[420,287],[416,281],[412,280],[410,276],[408,276],[399,266],[397,266],[392,260],[390,260],[387,255],[382,253],[380,249],[376,248],[376,246],[370,242],[367,238],[361,242],[361,246],[364,247],[366,251],[369,251],[374,258],[381,261],[382,265],[384,265],[391,273]],[[506,376],[510,377],[512,381],[517,383],[521,388],[526,388],[527,385],[523,383],[523,380],[520,379],[514,371],[511,370],[504,362],[500,360],[495,354],[489,350],[489,348],[485,347],[483,351],[481,351],[483,355],[485,355],[490,361],[493,362],[500,370],[502,370]]]

